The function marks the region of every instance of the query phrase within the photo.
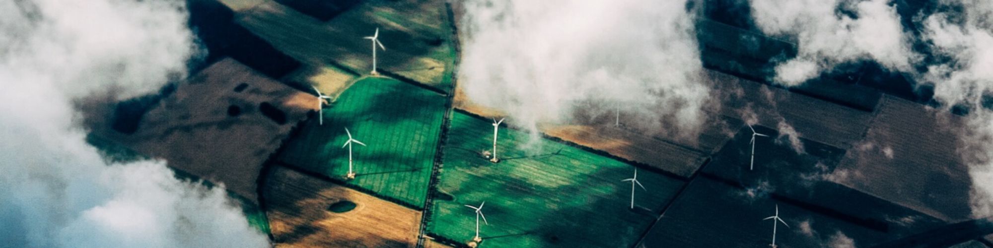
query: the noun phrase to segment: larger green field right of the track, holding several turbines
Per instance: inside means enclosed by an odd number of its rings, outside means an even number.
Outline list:
[[[481,247],[629,247],[638,240],[683,182],[639,170],[636,209],[629,207],[635,168],[548,140],[532,152],[518,149],[530,136],[501,128],[492,164],[489,120],[461,112],[452,117],[444,169],[428,230],[465,242],[474,236],[475,213],[464,204],[486,201]],[[640,208],[647,208],[640,209]]]

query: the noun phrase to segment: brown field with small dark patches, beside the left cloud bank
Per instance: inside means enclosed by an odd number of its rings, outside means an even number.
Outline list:
[[[92,134],[257,202],[263,164],[316,110],[315,99],[224,59],[178,84],[147,113],[117,116],[135,118],[130,134],[114,120],[94,125]]]

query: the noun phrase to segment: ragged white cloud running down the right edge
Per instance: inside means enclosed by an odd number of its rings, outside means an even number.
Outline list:
[[[964,105],[968,130],[961,134],[960,151],[972,179],[972,214],[993,214],[993,111],[983,109],[984,95],[993,92],[993,3],[975,0],[942,0],[939,4],[962,6],[963,12],[939,12],[922,18],[921,39],[933,56],[919,80],[934,85],[934,98],[946,107]],[[952,22],[950,20],[957,20]]]

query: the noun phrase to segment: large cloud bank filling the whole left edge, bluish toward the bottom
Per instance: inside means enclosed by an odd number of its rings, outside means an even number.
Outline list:
[[[84,141],[80,98],[186,75],[186,22],[179,0],[0,1],[0,246],[268,246],[223,188],[108,165]]]

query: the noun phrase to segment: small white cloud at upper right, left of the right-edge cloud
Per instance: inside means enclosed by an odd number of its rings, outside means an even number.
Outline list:
[[[798,85],[843,62],[871,60],[910,71],[919,56],[889,0],[751,0],[756,26],[796,42],[796,58],[776,67],[776,81]],[[837,10],[853,14],[839,14]]]

